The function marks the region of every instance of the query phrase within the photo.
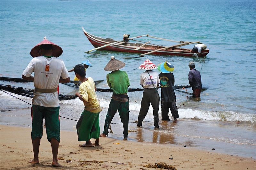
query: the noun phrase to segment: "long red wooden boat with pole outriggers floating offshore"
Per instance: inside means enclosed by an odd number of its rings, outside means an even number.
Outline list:
[[[84,30],[84,35],[88,38],[88,40],[92,43],[92,45],[95,47],[92,50],[86,51],[86,53],[90,53],[93,50],[99,49],[99,50],[108,50],[108,51],[117,51],[117,52],[127,52],[127,53],[141,53],[139,57],[142,57],[144,55],[148,54],[153,54],[153,55],[175,55],[175,56],[188,56],[192,57],[195,56],[195,52],[190,53],[188,48],[179,48],[181,46],[189,45],[189,44],[195,44],[195,43],[200,43],[199,41],[196,42],[188,42],[188,41],[174,41],[174,42],[179,42],[180,44],[172,45],[169,47],[166,46],[158,46],[156,44],[151,44],[150,41],[142,43],[131,43],[130,41],[127,42],[125,40],[122,41],[115,41],[111,38],[101,38],[94,36]],[[168,40],[168,39],[163,39],[163,38],[158,38],[154,36],[150,36],[148,34],[133,37],[133,38],[128,38],[131,41],[137,41],[137,42],[143,42],[143,41],[138,41],[134,40],[136,38],[140,37],[150,37],[150,38],[155,38],[155,39],[160,39],[160,40],[166,40],[166,41],[173,41],[173,40]],[[149,45],[150,44],[150,45]],[[201,56],[205,57],[209,53],[209,49],[205,49],[201,51]],[[198,55],[198,52],[196,53]],[[131,58],[136,58],[136,57],[131,57]]]

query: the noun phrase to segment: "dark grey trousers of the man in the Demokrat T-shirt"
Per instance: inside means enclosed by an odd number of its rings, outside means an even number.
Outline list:
[[[154,126],[156,128],[159,128],[159,125],[158,125],[159,102],[160,102],[160,97],[158,92],[155,89],[146,89],[146,88],[144,89],[137,126],[142,126],[142,121],[145,119],[151,103],[151,106],[153,107]]]

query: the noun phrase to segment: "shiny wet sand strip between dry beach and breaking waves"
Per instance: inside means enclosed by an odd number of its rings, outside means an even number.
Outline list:
[[[9,110],[1,113],[0,124],[19,127],[31,126],[30,108]],[[112,123],[120,122],[119,115],[116,114],[115,117],[116,119]],[[104,123],[104,118],[103,121],[100,120],[100,123]],[[61,130],[76,134],[76,121],[60,118],[60,126]],[[186,145],[186,148],[256,159],[255,129],[248,125],[178,119],[177,123],[173,123],[172,120],[169,122],[159,121],[159,126],[159,129],[154,129],[153,122],[143,122],[142,127],[138,128],[136,123],[130,123],[128,141],[171,146]],[[103,128],[104,124],[100,124],[101,132]],[[113,134],[109,133],[108,137],[123,140],[122,123],[111,124],[111,129]],[[246,136],[244,143],[236,143],[237,138],[244,136]],[[212,150],[213,148],[214,150]]]

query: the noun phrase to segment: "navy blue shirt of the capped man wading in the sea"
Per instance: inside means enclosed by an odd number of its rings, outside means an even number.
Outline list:
[[[192,69],[188,73],[188,81],[192,89],[202,89],[201,74],[196,69]]]

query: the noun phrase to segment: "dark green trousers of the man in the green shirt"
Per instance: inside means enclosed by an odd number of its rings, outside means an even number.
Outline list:
[[[127,102],[116,101],[111,99],[108,107],[108,113],[105,119],[104,131],[103,134],[108,135],[108,128],[118,110],[119,116],[121,118],[121,122],[123,123],[124,127],[124,137],[127,138],[128,136],[128,124],[129,124],[129,98]]]

